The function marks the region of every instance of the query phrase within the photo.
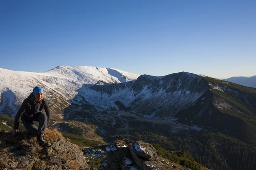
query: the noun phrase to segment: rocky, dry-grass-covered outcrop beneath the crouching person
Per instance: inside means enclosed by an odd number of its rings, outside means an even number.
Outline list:
[[[12,137],[10,133],[0,132],[0,170],[89,169],[83,152],[75,144],[67,142],[56,130],[48,130],[48,134],[46,137],[55,136],[55,139],[48,139],[52,146],[41,147],[36,142],[36,137],[26,133]]]

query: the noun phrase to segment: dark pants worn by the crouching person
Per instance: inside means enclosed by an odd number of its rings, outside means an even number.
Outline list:
[[[37,127],[33,121],[39,122],[39,126]],[[23,116],[22,124],[26,128],[26,130],[29,130],[29,132],[32,135],[37,134],[45,134],[46,133],[46,127],[47,127],[47,116],[45,113],[37,113],[34,114],[31,117]]]

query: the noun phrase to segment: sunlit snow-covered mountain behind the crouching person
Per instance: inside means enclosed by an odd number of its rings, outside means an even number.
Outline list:
[[[0,68],[0,114],[14,115],[35,86],[43,86],[52,107],[69,105],[84,84],[113,84],[137,79],[139,74],[113,68],[58,66],[45,73],[11,71]],[[57,102],[59,101],[59,102]]]

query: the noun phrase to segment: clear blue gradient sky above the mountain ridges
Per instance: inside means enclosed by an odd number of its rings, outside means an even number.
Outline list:
[[[256,75],[256,0],[1,0],[0,68]]]

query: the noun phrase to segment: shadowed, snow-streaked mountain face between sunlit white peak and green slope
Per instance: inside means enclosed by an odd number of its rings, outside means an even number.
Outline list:
[[[203,78],[186,72],[162,77],[142,75],[128,83],[83,85],[73,102],[79,104],[85,99],[102,110],[119,110],[123,105],[125,110],[144,116],[170,117],[192,105],[208,88]]]

